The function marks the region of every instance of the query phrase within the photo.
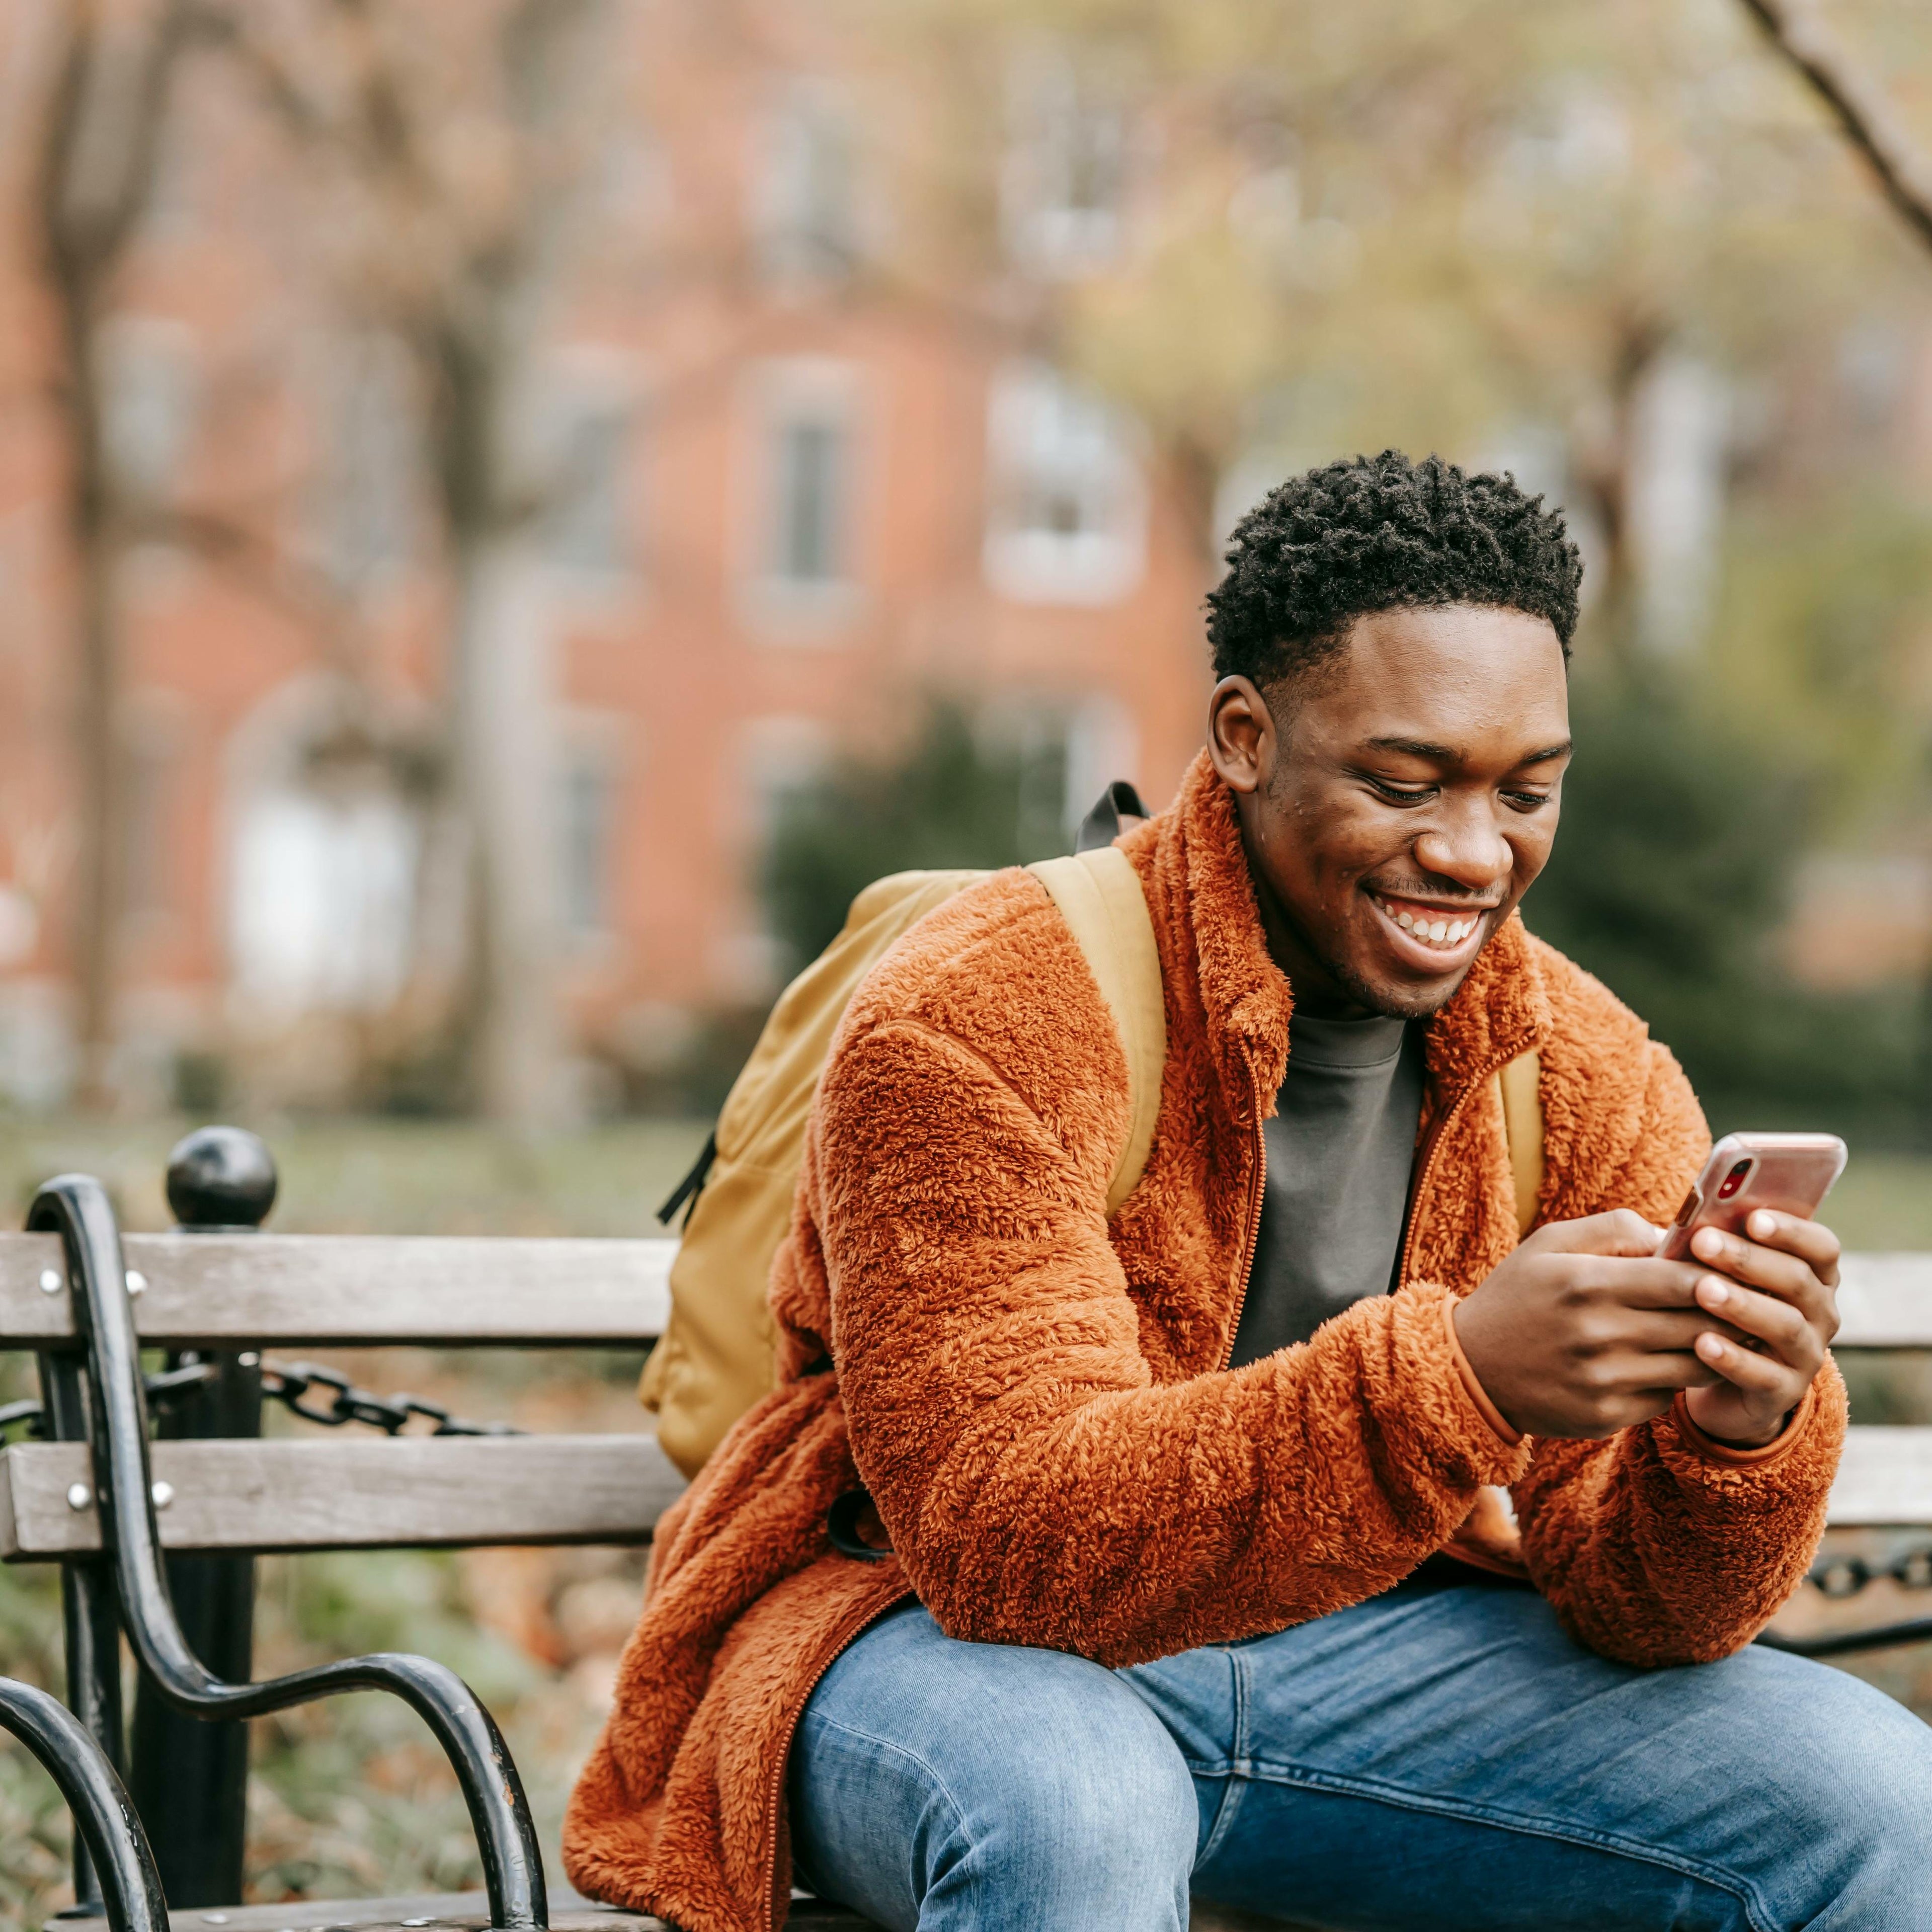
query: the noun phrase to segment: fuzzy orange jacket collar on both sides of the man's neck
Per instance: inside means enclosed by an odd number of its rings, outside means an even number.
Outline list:
[[[1155,842],[1153,889],[1169,895],[1179,889],[1184,898],[1171,906],[1179,918],[1157,927],[1192,941],[1194,978],[1221,1074],[1244,1084],[1252,1070],[1265,1107],[1287,1070],[1294,995],[1267,951],[1235,800],[1206,752],[1148,831]],[[1544,976],[1522,918],[1513,912],[1430,1022],[1430,1086],[1437,1097],[1459,1092],[1548,1034]]]

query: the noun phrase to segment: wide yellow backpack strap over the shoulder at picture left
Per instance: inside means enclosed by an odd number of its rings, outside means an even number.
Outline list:
[[[1086,954],[1126,1053],[1128,1128],[1107,1188],[1107,1213],[1134,1192],[1153,1146],[1167,1065],[1167,1003],[1140,873],[1119,846],[1043,858],[1028,867]]]

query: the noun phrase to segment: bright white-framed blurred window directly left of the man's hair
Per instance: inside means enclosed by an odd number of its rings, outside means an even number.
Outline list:
[[[987,412],[985,574],[1024,603],[1117,603],[1146,568],[1148,502],[1126,423],[1043,363],[1003,369]]]

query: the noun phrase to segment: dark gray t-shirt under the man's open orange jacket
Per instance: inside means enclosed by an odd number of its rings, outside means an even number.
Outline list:
[[[1408,1020],[1289,1020],[1231,1368],[1308,1341],[1391,1287],[1422,1121],[1422,1037]]]

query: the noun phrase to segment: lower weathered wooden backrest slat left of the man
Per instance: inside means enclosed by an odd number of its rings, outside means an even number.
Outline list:
[[[655,1435],[342,1435],[156,1441],[168,1549],[394,1549],[636,1544],[684,1490]],[[0,1455],[0,1559],[100,1548],[85,1443]]]

